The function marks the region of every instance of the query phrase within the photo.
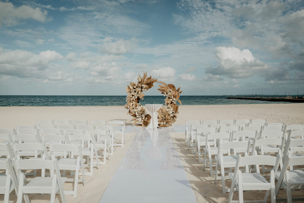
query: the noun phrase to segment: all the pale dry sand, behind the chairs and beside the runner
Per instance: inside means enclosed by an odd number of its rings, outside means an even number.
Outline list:
[[[37,120],[51,119],[80,119],[80,120],[126,120],[131,117],[126,114],[122,106],[110,107],[0,107],[0,128],[12,129],[16,125],[33,125]],[[184,125],[190,120],[218,120],[218,119],[268,119],[268,122],[280,122],[287,124],[304,124],[304,104],[240,104],[240,105],[202,105],[202,106],[179,106],[176,125]],[[127,124],[131,124],[127,122]],[[107,160],[100,169],[94,168],[93,176],[86,176],[87,184],[83,187],[78,184],[77,198],[65,195],[67,202],[98,202],[109,184],[115,170],[123,159],[135,134],[126,135],[126,145],[117,147],[116,152]],[[197,202],[226,202],[228,193],[222,193],[221,181],[216,185],[214,177],[210,177],[209,170],[202,170],[202,163],[194,159],[185,148],[185,134],[171,133],[174,145],[185,168],[185,172],[194,191]],[[227,186],[230,185],[229,181]],[[71,185],[65,185],[70,188]],[[293,191],[293,196],[303,195],[302,191]],[[58,196],[58,195],[57,195]],[[245,199],[263,198],[264,192],[245,192]],[[284,197],[284,193],[280,193]],[[48,202],[48,195],[31,194],[31,202]],[[237,193],[234,194],[237,198]],[[59,202],[60,197],[56,197]],[[46,201],[48,200],[48,201]],[[0,195],[0,202],[3,195]],[[16,196],[10,195],[10,202],[16,202]]]

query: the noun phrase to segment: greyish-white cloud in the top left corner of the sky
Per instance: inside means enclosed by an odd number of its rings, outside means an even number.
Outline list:
[[[0,2],[0,25],[16,25],[22,19],[34,19],[44,23],[47,20],[47,11],[26,5],[15,7],[10,2]]]

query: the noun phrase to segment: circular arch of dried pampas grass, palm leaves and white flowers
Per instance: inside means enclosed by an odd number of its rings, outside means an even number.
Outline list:
[[[178,105],[176,104],[181,101],[179,100],[179,95],[182,91],[180,87],[178,89],[175,88],[172,84],[166,84],[164,82],[157,81],[157,79],[152,78],[150,76],[147,77],[147,72],[143,74],[143,77],[138,75],[137,82],[130,82],[130,86],[128,85],[126,88],[126,93],[128,93],[126,97],[126,105],[125,108],[128,109],[128,114],[133,116],[131,121],[133,125],[139,123],[142,126],[146,126],[150,123],[151,116],[147,114],[146,110],[139,103],[140,99],[143,100],[145,96],[143,92],[147,92],[148,89],[153,87],[154,82],[159,82],[162,85],[159,85],[158,91],[161,92],[165,98],[166,106],[163,106],[160,110],[158,110],[158,125],[161,127],[166,127],[171,125],[176,121],[178,114]]]

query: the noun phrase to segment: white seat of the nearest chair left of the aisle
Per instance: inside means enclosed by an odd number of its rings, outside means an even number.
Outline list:
[[[67,180],[66,177],[60,177],[61,184]],[[53,177],[35,177],[28,184],[23,187],[23,193],[32,193],[34,190],[49,191],[51,193]],[[58,191],[58,184],[56,184],[55,191]],[[40,193],[40,192],[39,192]],[[47,192],[46,192],[47,193]]]

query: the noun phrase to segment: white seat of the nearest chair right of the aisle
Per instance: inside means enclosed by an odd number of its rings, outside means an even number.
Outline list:
[[[229,173],[232,180],[234,173]],[[269,190],[271,183],[269,183],[260,173],[242,173],[243,190]],[[236,185],[238,187],[239,180],[237,177]]]

